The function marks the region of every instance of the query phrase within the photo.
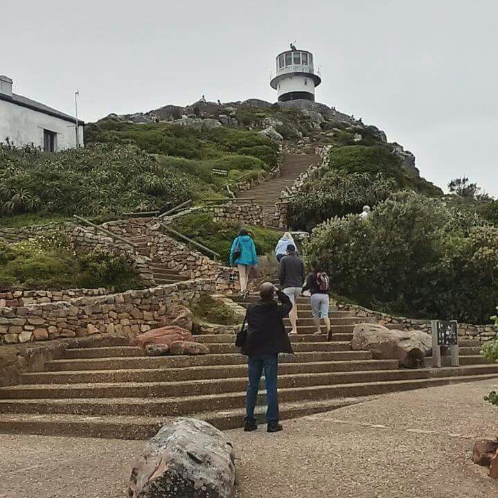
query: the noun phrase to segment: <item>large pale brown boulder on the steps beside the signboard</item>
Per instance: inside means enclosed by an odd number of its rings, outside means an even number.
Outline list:
[[[378,323],[358,323],[351,348],[369,350],[374,359],[398,359],[402,366],[418,368],[432,350],[432,337],[421,330],[389,330]]]

